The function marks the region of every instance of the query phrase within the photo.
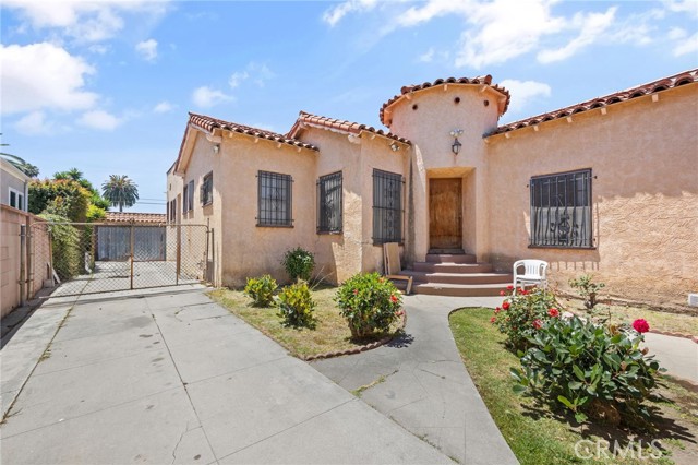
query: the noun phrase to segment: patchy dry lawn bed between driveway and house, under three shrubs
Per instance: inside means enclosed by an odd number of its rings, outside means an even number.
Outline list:
[[[333,301],[337,288],[320,287],[312,290],[313,300],[317,303],[315,318],[316,327],[296,329],[281,324],[275,308],[256,308],[250,305],[251,299],[241,290],[219,288],[210,291],[210,298],[226,307],[267,336],[286,347],[296,357],[308,358],[329,351],[348,350],[393,335],[398,331],[396,325],[390,333],[376,334],[363,339],[352,339],[347,321],[339,314],[339,309]]]

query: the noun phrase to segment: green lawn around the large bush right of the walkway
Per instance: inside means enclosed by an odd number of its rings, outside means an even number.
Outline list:
[[[450,315],[450,327],[468,372],[521,464],[648,463],[629,457],[610,460],[601,456],[597,462],[578,458],[575,443],[581,439],[594,441],[601,436],[613,442],[614,439],[627,441],[634,436],[617,428],[594,427],[590,430],[585,427],[582,431],[564,412],[535,402],[531,396],[514,394],[509,368],[519,367],[519,360],[504,348],[505,337],[490,323],[491,317],[492,309],[462,309]],[[658,390],[658,394],[665,398],[658,398],[650,405],[658,415],[660,431],[641,437],[646,443],[660,439],[667,449],[666,456],[653,463],[674,463],[672,454],[676,457],[696,454],[698,457],[698,394],[669,380],[666,388]],[[691,462],[677,458],[676,463]]]

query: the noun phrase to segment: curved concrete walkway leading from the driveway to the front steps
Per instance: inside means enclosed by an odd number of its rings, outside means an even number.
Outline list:
[[[406,296],[406,336],[362,354],[312,366],[444,454],[465,464],[516,464],[456,348],[448,314],[495,307],[502,297]]]

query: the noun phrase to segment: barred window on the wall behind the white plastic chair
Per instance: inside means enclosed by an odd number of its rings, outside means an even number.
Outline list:
[[[533,247],[593,247],[591,169],[531,178]]]

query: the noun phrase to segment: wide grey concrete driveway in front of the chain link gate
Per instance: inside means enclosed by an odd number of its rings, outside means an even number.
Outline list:
[[[49,299],[0,353],[2,463],[453,463],[204,290]]]

